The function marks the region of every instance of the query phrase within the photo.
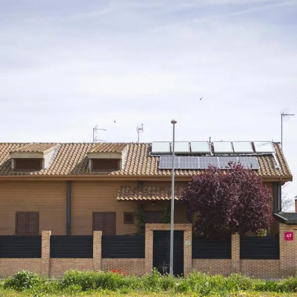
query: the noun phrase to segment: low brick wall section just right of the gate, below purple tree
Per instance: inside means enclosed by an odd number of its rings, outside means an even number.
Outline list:
[[[233,272],[231,259],[193,259],[192,269],[211,275],[222,274],[228,276]]]

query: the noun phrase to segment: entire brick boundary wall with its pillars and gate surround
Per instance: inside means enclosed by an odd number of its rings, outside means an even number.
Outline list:
[[[295,233],[297,228],[280,224],[280,260],[240,260],[240,240],[238,235],[232,236],[231,259],[193,259],[192,260],[192,226],[191,224],[175,224],[175,230],[184,231],[184,274],[192,269],[209,274],[229,275],[242,273],[250,277],[280,278],[295,275],[297,271],[297,232],[294,241],[285,241],[285,232]],[[107,259],[101,258],[101,232],[95,231],[93,236],[93,259],[81,258],[49,258],[50,231],[42,232],[42,258],[8,259],[0,258],[0,277],[12,275],[22,269],[33,271],[45,276],[62,276],[64,271],[123,269],[130,275],[150,274],[152,270],[152,244],[154,230],[170,230],[169,224],[146,225],[146,253],[144,259]]]

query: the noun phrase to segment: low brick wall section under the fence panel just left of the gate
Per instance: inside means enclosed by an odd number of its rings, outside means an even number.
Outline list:
[[[145,259],[101,259],[101,270],[123,269],[129,275],[145,274]]]

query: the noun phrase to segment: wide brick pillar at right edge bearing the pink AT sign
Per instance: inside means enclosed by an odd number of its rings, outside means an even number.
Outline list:
[[[297,271],[297,226],[280,223],[281,277],[294,276]],[[285,233],[293,232],[293,241],[285,241]]]

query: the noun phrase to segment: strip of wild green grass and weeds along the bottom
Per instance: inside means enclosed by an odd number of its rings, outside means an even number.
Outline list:
[[[186,278],[161,276],[157,271],[143,277],[123,272],[68,271],[49,280],[20,271],[0,283],[0,297],[57,296],[296,296],[297,277],[281,281],[253,280],[240,274],[229,277],[191,273]]]

